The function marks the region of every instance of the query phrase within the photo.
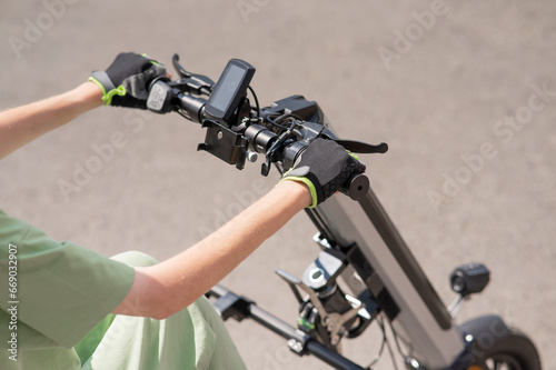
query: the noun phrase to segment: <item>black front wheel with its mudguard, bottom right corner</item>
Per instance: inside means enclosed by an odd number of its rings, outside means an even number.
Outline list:
[[[464,324],[466,327],[466,324]],[[467,323],[475,339],[469,370],[540,370],[540,358],[533,341],[499,317],[483,317]]]

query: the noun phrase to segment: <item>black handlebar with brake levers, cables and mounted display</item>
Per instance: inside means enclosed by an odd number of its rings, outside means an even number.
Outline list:
[[[256,153],[265,154],[261,173],[268,176],[271,164],[280,173],[294,167],[306,147],[316,138],[335,140],[353,152],[386,152],[386,143],[370,146],[359,141],[340,140],[327,128],[328,122],[315,101],[292,96],[259,108],[257,96],[249,87],[255,68],[232,59],[217,83],[206,76],[188,72],[172,58],[179,79],[158,78],[149,88],[147,108],[157,113],[178,112],[207,129],[205,150],[229,164],[242,169],[246,160],[255,161]],[[251,107],[247,89],[256,102]],[[360,200],[369,189],[363,173],[354,174],[341,188],[354,200]]]

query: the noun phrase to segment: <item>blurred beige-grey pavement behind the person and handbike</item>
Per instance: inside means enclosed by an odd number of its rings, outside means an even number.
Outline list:
[[[262,104],[316,100],[345,138],[385,141],[363,156],[371,186],[441,299],[448,276],[480,261],[492,282],[458,321],[495,312],[530,334],[556,369],[556,24],[553,1],[2,1],[0,108],[69,90],[121,51],[212,77],[230,58],[257,68]],[[121,148],[111,143],[122,138]],[[101,108],[0,161],[1,208],[105,256],[163,260],[269,190],[196,148],[177,114]],[[99,148],[113,153],[99,157]],[[284,320],[318,253],[299,214],[222,282]],[[251,369],[327,369],[252,322],[227,323]],[[376,329],[375,329],[376,330]],[[378,332],[344,341],[368,364]],[[388,356],[376,368],[389,369]]]

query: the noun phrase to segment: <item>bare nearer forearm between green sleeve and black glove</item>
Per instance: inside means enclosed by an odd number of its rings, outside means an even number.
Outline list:
[[[278,184],[182,253],[152,267],[136,268],[131,291],[115,313],[165,318],[186,308],[310,202],[304,184],[292,181]]]

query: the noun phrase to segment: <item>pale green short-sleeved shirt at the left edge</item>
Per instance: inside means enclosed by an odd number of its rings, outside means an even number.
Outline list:
[[[0,211],[0,368],[80,369],[72,347],[126,298],[133,269]]]

